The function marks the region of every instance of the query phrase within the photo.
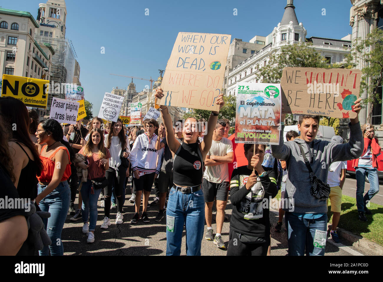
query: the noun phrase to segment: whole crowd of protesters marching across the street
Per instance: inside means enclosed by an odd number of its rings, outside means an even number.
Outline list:
[[[155,96],[164,96],[161,88]],[[216,104],[223,106],[222,95]],[[354,110],[359,113],[360,99]],[[85,126],[82,120],[64,125],[54,119],[38,120],[36,112],[17,99],[0,98],[4,121],[0,123],[0,197],[29,199],[29,210],[33,206],[28,214],[23,207],[0,209],[0,253],[33,255],[38,250],[41,256],[63,255],[61,233],[68,212],[70,220],[82,219],[82,232],[92,243],[98,201],[103,199],[104,216],[99,228],[106,229],[124,222],[128,194],[135,207],[131,224],[149,223],[147,208],[158,205],[154,221],[166,219],[167,255],[180,255],[184,229],[187,255],[200,255],[205,222],[205,239],[227,248],[228,255],[270,255],[269,204],[281,190],[275,231],[282,230],[284,216],[288,254],[324,255],[324,247],[316,243],[318,232],[327,232],[328,198],[333,213],[328,235],[339,242],[336,228],[347,160],[353,160],[356,168],[358,218],[368,220],[367,203],[379,190],[376,157],[381,148],[373,126],[361,127],[358,115],[350,119],[350,139],[344,143],[340,136],[331,142],[316,139],[316,115],[301,115],[299,132],[291,130],[283,142],[285,116],[281,114],[279,145],[244,144],[247,164],[231,172],[235,144],[228,139],[230,122],[218,119],[219,111],[212,111],[207,121],[190,117],[175,124],[167,106],[160,106],[160,111],[163,124],[147,119],[141,128],[128,129],[121,119],[104,124],[98,117]],[[310,172],[320,188],[312,185]],[[365,176],[370,190],[363,196]],[[126,191],[128,183],[131,191]],[[155,198],[149,203],[153,184]],[[318,196],[326,189],[326,197]],[[229,195],[233,208],[225,244],[221,232]],[[114,208],[117,213],[111,218]],[[39,228],[29,224],[36,214]],[[38,229],[38,235],[32,228]]]

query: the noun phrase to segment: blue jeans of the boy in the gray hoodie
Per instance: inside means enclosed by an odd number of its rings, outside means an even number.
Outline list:
[[[324,256],[324,249],[314,247],[315,230],[327,231],[327,214],[320,218],[300,218],[286,211],[285,225],[288,234],[288,255]]]

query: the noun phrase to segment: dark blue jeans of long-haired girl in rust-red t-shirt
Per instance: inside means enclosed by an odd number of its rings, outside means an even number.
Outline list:
[[[95,231],[97,223],[97,201],[101,189],[93,190],[94,194],[92,194],[91,191],[92,181],[88,180],[87,182],[82,183],[80,191],[82,196],[81,214],[83,223],[87,223],[88,213],[90,213],[89,231]]]

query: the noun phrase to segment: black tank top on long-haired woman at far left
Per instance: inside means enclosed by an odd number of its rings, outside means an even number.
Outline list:
[[[15,141],[12,141],[15,142]],[[15,142],[21,147],[21,149],[26,153],[29,161],[25,168],[20,172],[19,183],[17,184],[17,191],[20,198],[28,198],[34,200],[37,197],[37,166],[31,158],[29,158],[28,153],[24,150],[18,142]]]

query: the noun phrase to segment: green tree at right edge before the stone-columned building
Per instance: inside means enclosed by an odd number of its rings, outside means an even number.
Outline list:
[[[354,60],[364,61],[360,94],[367,91],[367,98],[363,99],[362,104],[370,106],[367,122],[371,122],[373,106],[382,102],[382,93],[381,90],[379,91],[383,77],[383,31],[381,29],[375,28],[365,40],[360,37],[355,39],[351,56],[347,56],[347,62],[353,64]]]

